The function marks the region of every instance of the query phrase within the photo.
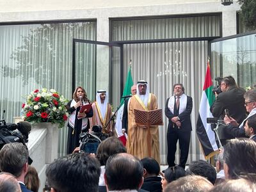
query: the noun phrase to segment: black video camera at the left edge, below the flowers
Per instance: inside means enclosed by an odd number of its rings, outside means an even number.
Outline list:
[[[28,143],[28,134],[31,131],[29,122],[6,124],[0,120],[0,150],[6,143]]]

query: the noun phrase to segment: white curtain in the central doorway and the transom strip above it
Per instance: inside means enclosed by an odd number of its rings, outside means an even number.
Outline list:
[[[114,20],[112,25],[112,40],[189,38],[220,35],[219,15],[169,19]],[[191,133],[188,163],[204,158],[196,137],[195,126],[204,85],[207,57],[207,41],[124,45],[123,81],[125,82],[127,76],[127,63],[131,59],[134,83],[140,79],[148,81],[150,92],[157,96],[158,106],[163,109],[163,114],[166,99],[173,94],[173,84],[184,84],[186,94],[193,98],[193,111],[191,113],[193,131]],[[120,68],[115,68],[115,70],[118,72]],[[114,74],[118,74],[116,72]],[[116,75],[114,78],[118,82],[120,77]],[[161,163],[163,164],[166,164],[167,155],[167,126],[168,121],[164,116],[164,125],[159,127]],[[179,163],[179,150],[176,153],[176,163]]]

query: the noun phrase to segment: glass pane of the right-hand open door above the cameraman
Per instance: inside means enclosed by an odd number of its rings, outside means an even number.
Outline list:
[[[255,34],[214,42],[211,51],[213,77],[234,76],[243,88],[256,83]]]

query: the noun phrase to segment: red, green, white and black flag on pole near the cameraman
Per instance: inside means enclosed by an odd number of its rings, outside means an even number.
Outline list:
[[[210,107],[212,106],[214,99],[215,97],[212,93],[211,70],[208,60],[204,90],[202,92],[199,115],[196,123],[196,134],[201,143],[205,159],[209,159],[219,152],[218,145],[215,140],[215,134],[211,129],[211,124],[207,124],[206,122],[207,118],[213,117],[210,111]]]

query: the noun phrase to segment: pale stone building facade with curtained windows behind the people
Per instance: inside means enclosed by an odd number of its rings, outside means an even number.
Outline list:
[[[173,84],[184,84],[194,101],[188,161],[203,158],[195,125],[207,58],[216,60],[211,63],[214,77],[237,78],[237,68],[221,72],[220,66],[226,64],[220,65],[218,54],[210,53],[214,46],[210,42],[239,33],[239,4],[223,6],[215,0],[0,4],[1,117],[12,122],[20,115],[24,96],[35,88],[54,88],[71,99],[74,87],[80,85],[92,100],[96,90],[108,90],[115,111],[131,63],[133,81],[148,81],[159,108],[164,109]],[[164,118],[159,127],[161,163],[166,163],[167,125]],[[65,154],[66,134],[66,128],[60,131],[60,155]]]

